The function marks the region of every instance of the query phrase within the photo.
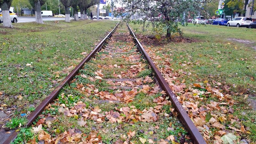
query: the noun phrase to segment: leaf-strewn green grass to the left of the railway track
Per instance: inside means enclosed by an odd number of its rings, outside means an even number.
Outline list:
[[[89,53],[115,25],[111,21],[84,20],[0,27],[0,105],[39,105],[87,55],[80,53]],[[17,111],[26,113],[22,107]]]

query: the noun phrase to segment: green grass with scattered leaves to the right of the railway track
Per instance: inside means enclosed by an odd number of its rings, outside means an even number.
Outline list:
[[[141,26],[130,25],[137,35],[152,34],[151,27],[147,28],[147,31],[140,32]],[[188,88],[193,87],[194,83],[204,84],[204,81],[215,86],[220,82],[218,89],[223,93],[229,93],[237,101],[234,106],[230,106],[234,109],[233,115],[250,129],[251,133],[243,133],[242,136],[250,142],[255,142],[256,111],[248,106],[248,101],[244,97],[256,95],[256,29],[193,24],[180,28],[184,32],[184,37],[191,39],[192,43],[165,42],[162,45],[144,43],[144,48],[161,57],[160,60],[156,60],[159,68],[168,65],[173,69],[172,73],[175,75],[171,76],[177,78],[173,81],[174,84],[176,81],[177,84],[184,81]],[[249,40],[252,43],[244,44],[232,39]],[[198,108],[209,104],[211,100],[220,101],[213,96],[205,97]],[[228,124],[228,121],[225,123]]]

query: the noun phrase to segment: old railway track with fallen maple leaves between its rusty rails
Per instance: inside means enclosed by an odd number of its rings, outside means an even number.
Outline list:
[[[28,116],[27,126],[39,131],[35,138],[44,143],[206,143],[132,29],[117,26]]]

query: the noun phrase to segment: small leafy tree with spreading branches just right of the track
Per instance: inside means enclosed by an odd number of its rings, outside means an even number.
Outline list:
[[[180,33],[178,21],[185,25],[185,19],[190,15],[198,14],[205,3],[203,0],[122,0],[124,13],[122,16],[130,18],[132,15],[142,18],[135,23],[145,26],[150,19],[155,32],[166,32],[166,37],[171,33]],[[129,19],[128,19],[129,20]],[[147,26],[147,25],[146,25]]]

